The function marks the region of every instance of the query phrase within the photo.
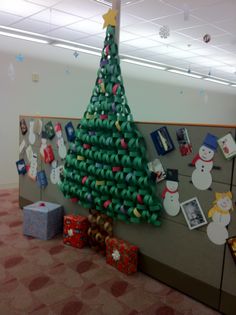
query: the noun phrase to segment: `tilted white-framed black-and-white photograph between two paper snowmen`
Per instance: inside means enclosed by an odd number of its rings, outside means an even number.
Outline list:
[[[180,206],[190,230],[207,224],[206,217],[196,197],[182,202]]]

